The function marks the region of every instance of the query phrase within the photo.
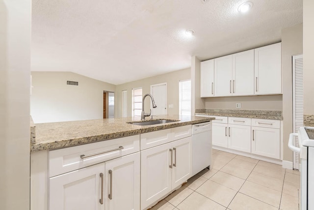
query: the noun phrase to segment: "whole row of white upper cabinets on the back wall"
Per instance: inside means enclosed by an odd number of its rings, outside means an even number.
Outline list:
[[[201,62],[201,97],[281,94],[281,43]]]

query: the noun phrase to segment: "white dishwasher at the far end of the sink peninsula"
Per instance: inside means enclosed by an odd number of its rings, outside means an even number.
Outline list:
[[[211,163],[211,122],[192,125],[192,176]]]

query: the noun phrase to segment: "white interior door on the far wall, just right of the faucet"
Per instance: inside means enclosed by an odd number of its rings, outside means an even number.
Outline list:
[[[156,108],[152,107],[152,115],[167,114],[167,83],[151,85],[151,94],[154,97]]]

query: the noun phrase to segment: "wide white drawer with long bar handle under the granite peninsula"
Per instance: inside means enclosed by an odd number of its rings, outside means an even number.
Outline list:
[[[49,151],[49,177],[138,151],[139,135],[52,150]]]

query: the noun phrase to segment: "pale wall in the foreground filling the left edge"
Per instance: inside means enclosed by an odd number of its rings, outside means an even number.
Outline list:
[[[0,210],[29,210],[31,0],[0,1]]]

